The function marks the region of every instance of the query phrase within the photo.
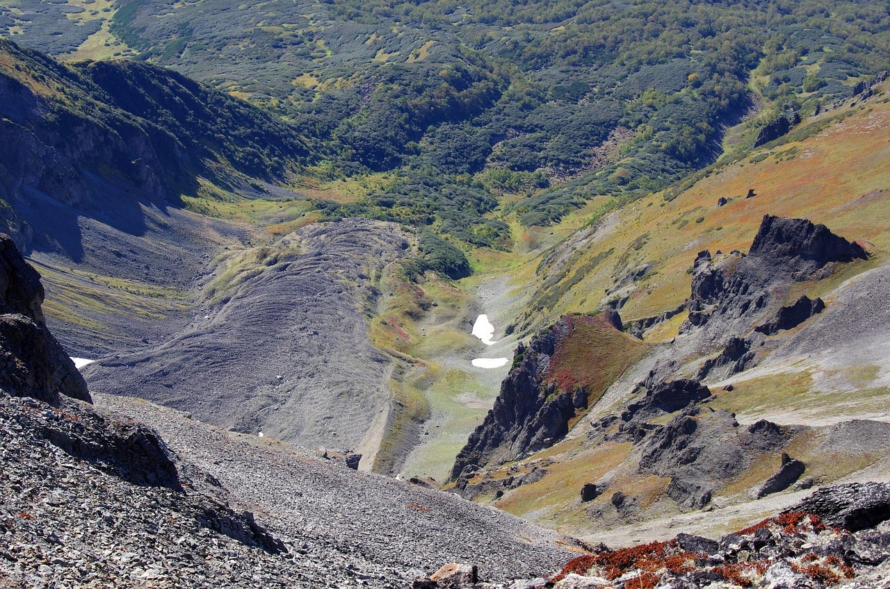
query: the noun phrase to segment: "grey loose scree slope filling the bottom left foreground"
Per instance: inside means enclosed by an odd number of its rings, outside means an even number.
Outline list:
[[[25,300],[39,317],[36,273],[6,253],[4,309]],[[33,352],[3,349],[25,367],[15,354]],[[506,513],[144,400],[96,394],[92,406],[51,388],[51,404],[39,379],[8,389],[0,586],[394,589],[433,563],[473,560],[506,580],[578,551]]]

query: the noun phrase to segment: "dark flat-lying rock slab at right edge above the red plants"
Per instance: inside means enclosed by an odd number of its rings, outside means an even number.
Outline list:
[[[890,483],[865,482],[820,488],[787,512],[819,515],[829,526],[857,531],[890,520]]]

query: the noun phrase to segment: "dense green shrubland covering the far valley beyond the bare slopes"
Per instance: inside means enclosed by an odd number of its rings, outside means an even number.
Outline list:
[[[43,17],[0,17],[38,47],[68,46]],[[287,121],[298,139],[272,155],[261,135],[219,140],[243,145],[232,157],[246,169],[277,173],[279,151],[308,148],[328,176],[390,176],[357,202],[320,201],[326,218],[473,246],[508,242],[492,219],[504,193],[525,225],[595,196],[617,206],[714,162],[755,106],[752,129],[890,68],[886,3],[840,0],[133,0],[111,31]]]

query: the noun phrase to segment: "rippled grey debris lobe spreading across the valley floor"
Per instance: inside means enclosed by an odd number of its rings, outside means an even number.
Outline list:
[[[85,369],[94,391],[138,394],[238,432],[373,459],[392,359],[368,337],[374,278],[409,253],[396,225],[321,223],[255,251],[182,333]],[[251,254],[248,252],[247,254]],[[364,444],[363,444],[364,442]]]

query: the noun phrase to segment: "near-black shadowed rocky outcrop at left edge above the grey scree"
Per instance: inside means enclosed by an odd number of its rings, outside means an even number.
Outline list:
[[[44,288],[12,238],[0,234],[0,388],[52,405],[90,400],[83,376],[46,328]]]

